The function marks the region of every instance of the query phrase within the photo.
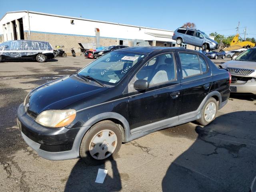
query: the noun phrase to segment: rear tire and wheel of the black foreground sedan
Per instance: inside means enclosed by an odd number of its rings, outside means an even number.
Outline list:
[[[215,108],[214,108],[214,105],[215,105]],[[209,108],[212,108],[212,107],[213,109],[210,110]],[[206,110],[210,110],[208,115],[206,114]],[[216,118],[217,112],[218,112],[218,102],[216,101],[216,99],[211,97],[204,104],[204,107],[201,110],[201,118],[196,120],[196,122],[198,122],[198,124],[200,125],[206,126]]]

